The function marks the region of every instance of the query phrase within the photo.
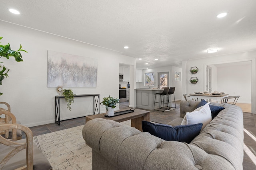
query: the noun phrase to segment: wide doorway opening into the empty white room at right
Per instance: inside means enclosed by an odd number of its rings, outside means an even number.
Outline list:
[[[206,88],[208,90],[209,66],[206,67]],[[210,65],[212,73],[210,88],[225,92],[228,96],[240,96],[236,105],[244,107],[243,111],[252,113],[252,61],[222,63]],[[239,68],[239,69],[238,69]],[[240,106],[240,107],[241,107]]]

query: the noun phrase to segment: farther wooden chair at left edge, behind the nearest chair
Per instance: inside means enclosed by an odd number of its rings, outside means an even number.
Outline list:
[[[5,108],[0,107],[0,111],[9,111],[9,112],[11,112],[11,107],[8,103],[0,102],[0,104],[5,105]],[[2,114],[5,114],[5,113],[2,112]],[[10,117],[8,115],[5,115],[4,117],[0,115],[0,125],[1,124],[10,124],[10,123],[19,123],[19,124],[21,124],[19,121],[16,121],[16,118],[14,120],[14,119],[12,119],[12,117]],[[22,139],[22,132],[21,132],[20,129],[18,129],[17,131],[15,130],[15,133],[17,135],[17,140]],[[10,131],[8,129],[5,130],[5,131],[0,131],[0,135],[4,135],[4,137],[6,139],[11,139],[12,138],[12,131]]]

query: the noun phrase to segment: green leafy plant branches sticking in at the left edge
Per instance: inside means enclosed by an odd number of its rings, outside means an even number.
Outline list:
[[[3,37],[0,37],[0,39],[2,39],[2,38]],[[18,49],[17,51],[14,51],[11,49],[9,43],[7,45],[0,44],[0,58],[5,57],[6,59],[9,59],[9,57],[14,57],[15,61],[21,62],[21,61],[23,61],[23,59],[22,59],[22,55],[21,55],[20,51],[26,52],[25,50],[23,50],[21,48],[22,48],[22,46],[20,45],[20,49]],[[28,52],[26,52],[26,53],[28,53]],[[2,62],[0,62],[0,63],[2,63]],[[8,77],[8,74],[7,74],[8,71],[9,71],[9,69],[6,70],[5,66],[2,66],[0,64],[0,85],[2,85],[2,80],[4,80],[4,76]],[[2,95],[2,93],[0,93],[0,96],[1,95]]]

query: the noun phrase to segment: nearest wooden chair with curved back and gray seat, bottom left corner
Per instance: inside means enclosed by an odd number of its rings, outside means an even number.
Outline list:
[[[50,162],[44,154],[34,147],[32,131],[16,122],[16,117],[9,111],[0,111],[11,117],[12,123],[0,125],[0,131],[11,130],[12,140],[0,135],[0,170],[52,170]],[[26,134],[26,139],[17,141],[16,130]]]

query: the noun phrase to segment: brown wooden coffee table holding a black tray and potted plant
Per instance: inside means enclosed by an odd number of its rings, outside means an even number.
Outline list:
[[[127,109],[122,109],[119,111],[124,111],[124,110],[127,110]],[[115,111],[115,112],[118,112],[118,111]],[[135,127],[136,129],[142,131],[142,121],[143,120],[150,121],[149,111],[140,110],[140,109],[134,109],[134,112],[132,113],[126,113],[126,114],[118,115],[114,117],[105,117],[104,116],[105,114],[106,113],[86,116],[85,123],[88,122],[89,120],[96,119],[96,118],[109,119],[109,120],[118,121],[118,122],[131,120],[131,127]]]

